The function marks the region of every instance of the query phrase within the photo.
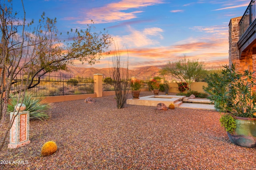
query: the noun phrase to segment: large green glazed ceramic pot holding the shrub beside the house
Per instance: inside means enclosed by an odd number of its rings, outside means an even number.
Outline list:
[[[256,118],[242,118],[236,116],[234,134],[228,132],[230,141],[246,148],[256,147]]]

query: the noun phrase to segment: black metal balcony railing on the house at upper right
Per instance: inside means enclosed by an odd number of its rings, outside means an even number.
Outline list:
[[[251,0],[250,4],[248,5],[244,15],[242,16],[239,22],[239,38],[241,38],[252,22],[256,19],[256,4],[255,0]]]

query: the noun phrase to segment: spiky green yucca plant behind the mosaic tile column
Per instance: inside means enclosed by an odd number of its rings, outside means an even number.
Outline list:
[[[14,107],[17,103],[20,103],[21,101],[18,101],[18,95],[10,94],[10,102],[8,104],[7,111],[13,112]],[[44,100],[43,97],[40,96],[32,96],[31,94],[25,93],[24,95],[24,101],[23,104],[26,105],[25,111],[29,111],[30,119],[40,119],[45,120],[50,117],[50,113],[47,112],[47,110],[50,108],[49,103],[42,102]]]

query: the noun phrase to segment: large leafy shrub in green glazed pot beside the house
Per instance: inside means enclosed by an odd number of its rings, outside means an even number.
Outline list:
[[[220,111],[220,123],[230,141],[247,148],[256,147],[256,100],[254,72],[238,72],[235,65],[224,66],[221,73],[210,74],[204,91]]]

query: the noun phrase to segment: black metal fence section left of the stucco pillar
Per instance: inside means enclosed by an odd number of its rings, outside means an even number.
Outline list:
[[[18,77],[21,77],[18,76]],[[26,81],[21,78],[14,80],[12,84],[12,92],[17,92],[26,86]],[[33,80],[33,84],[38,82],[38,78]],[[81,77],[67,77],[67,76],[42,76],[40,83],[34,88],[26,90],[32,96],[59,96],[69,94],[92,94],[94,93],[94,79]]]

